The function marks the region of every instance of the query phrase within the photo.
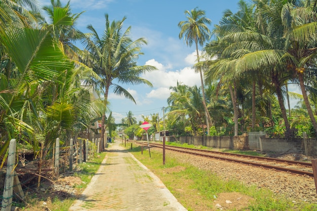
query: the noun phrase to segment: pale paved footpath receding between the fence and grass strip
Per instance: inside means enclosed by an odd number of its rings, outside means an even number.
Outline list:
[[[185,211],[162,181],[120,143],[110,144],[98,172],[69,211]]]

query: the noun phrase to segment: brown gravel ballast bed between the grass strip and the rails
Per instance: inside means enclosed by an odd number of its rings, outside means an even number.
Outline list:
[[[273,193],[283,195],[294,202],[317,202],[313,178],[169,150],[167,150],[167,153],[181,162],[190,163],[201,170],[211,171],[224,180],[235,179],[245,185],[267,188]]]

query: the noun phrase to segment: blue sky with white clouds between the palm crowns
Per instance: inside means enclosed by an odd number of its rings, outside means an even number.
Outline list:
[[[65,5],[68,1],[61,0]],[[99,35],[105,26],[105,14],[109,20],[119,21],[123,17],[124,27],[131,26],[131,37],[135,40],[144,37],[147,45],[142,46],[138,65],[152,65],[156,71],[142,75],[153,87],[146,85],[121,85],[134,97],[136,104],[128,99],[109,93],[108,100],[112,116],[120,123],[129,111],[132,111],[138,121],[143,116],[158,113],[163,117],[163,107],[167,107],[170,87],[175,87],[177,81],[188,86],[201,86],[200,75],[192,66],[195,63],[195,47],[186,45],[179,39],[178,23],[186,21],[184,12],[199,8],[206,12],[206,17],[212,23],[209,29],[219,23],[226,9],[233,13],[237,11],[239,0],[70,0],[72,13],[85,11],[78,19],[76,27],[83,32],[92,25]],[[247,1],[248,2],[248,1]],[[50,5],[49,0],[42,0],[41,5]],[[125,29],[126,29],[125,28]],[[80,44],[76,44],[80,46]],[[202,49],[202,47],[200,47]]]

